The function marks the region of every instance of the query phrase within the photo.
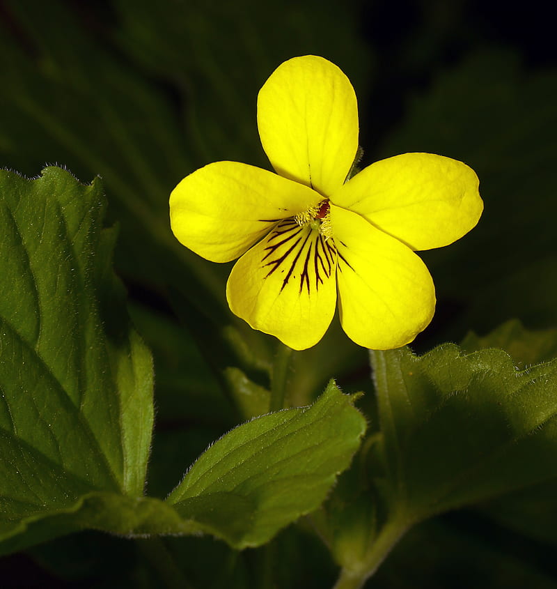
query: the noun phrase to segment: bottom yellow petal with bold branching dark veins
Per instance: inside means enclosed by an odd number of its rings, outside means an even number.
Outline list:
[[[236,262],[226,298],[253,329],[303,350],[317,344],[331,323],[335,276],[332,240],[286,219]]]

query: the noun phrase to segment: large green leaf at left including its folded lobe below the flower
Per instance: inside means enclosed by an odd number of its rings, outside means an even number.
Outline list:
[[[2,553],[83,528],[256,546],[322,503],[366,427],[333,383],[223,436],[168,502],[141,497],[152,365],[111,272],[100,185],[47,168],[0,186]]]

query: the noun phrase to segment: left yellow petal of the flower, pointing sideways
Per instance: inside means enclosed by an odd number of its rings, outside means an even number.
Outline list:
[[[170,197],[178,240],[214,262],[241,256],[278,220],[315,206],[322,197],[271,171],[216,162],[186,176]]]

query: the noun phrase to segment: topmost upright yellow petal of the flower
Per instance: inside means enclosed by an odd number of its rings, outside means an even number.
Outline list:
[[[282,63],[259,92],[257,120],[278,174],[324,196],[345,181],[358,149],[358,105],[334,63],[314,55]]]

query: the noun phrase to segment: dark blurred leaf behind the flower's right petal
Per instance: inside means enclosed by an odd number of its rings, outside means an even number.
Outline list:
[[[434,320],[437,342],[509,317],[533,327],[557,324],[556,94],[555,69],[526,72],[511,49],[482,49],[411,97],[382,147],[381,157],[448,155],[480,178],[485,211],[478,227],[421,254],[445,309]]]

